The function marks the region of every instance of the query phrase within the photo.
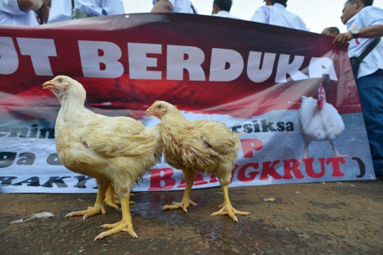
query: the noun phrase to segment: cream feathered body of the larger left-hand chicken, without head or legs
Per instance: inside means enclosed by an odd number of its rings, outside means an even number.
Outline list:
[[[110,180],[121,193],[155,165],[160,125],[145,128],[128,117],[106,117],[84,107],[72,110],[61,109],[55,125],[57,154],[67,169]]]

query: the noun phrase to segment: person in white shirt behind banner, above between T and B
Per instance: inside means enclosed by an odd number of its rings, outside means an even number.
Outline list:
[[[74,0],[75,9],[84,11],[91,16],[109,16],[125,13],[121,0]],[[71,0],[52,0],[48,23],[70,21],[71,16]]]

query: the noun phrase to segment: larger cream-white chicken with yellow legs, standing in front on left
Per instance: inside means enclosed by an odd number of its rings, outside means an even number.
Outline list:
[[[99,190],[94,207],[69,216],[84,215],[84,219],[105,214],[103,199],[111,184],[121,201],[122,220],[101,227],[110,228],[94,240],[125,231],[137,237],[133,230],[129,195],[135,182],[155,165],[154,154],[162,148],[160,125],[145,128],[128,117],[106,117],[84,107],[86,91],[70,77],[58,76],[43,84],[61,103],[55,125],[56,149],[60,162],[70,171],[92,176]]]

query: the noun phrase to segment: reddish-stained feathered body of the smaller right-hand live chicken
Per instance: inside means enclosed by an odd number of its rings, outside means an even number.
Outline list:
[[[218,121],[188,121],[179,113],[161,119],[163,154],[176,169],[215,174],[230,182],[239,138]]]

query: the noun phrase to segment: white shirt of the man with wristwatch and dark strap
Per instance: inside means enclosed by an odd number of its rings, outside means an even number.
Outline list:
[[[350,18],[346,23],[348,31],[353,30],[354,28],[368,28],[374,25],[383,26],[383,9],[373,6],[362,8],[360,13],[357,13],[357,15]],[[373,40],[374,39],[369,38],[358,38],[357,41],[360,42],[360,45],[357,45],[355,39],[350,40],[348,56],[359,57]],[[360,63],[357,78],[373,74],[377,69],[383,69],[383,38],[380,40],[379,44],[374,47],[374,50],[372,50],[362,63]]]

